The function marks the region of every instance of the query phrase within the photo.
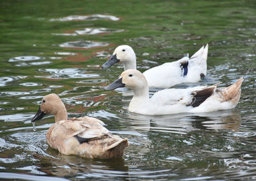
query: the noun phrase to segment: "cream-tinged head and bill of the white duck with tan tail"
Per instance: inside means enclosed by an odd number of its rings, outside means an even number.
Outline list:
[[[104,90],[115,90],[116,88],[131,88],[132,90],[144,90],[148,88],[147,80],[139,70],[125,70],[116,81],[109,84]]]

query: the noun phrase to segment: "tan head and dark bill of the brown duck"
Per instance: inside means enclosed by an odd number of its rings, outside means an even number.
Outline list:
[[[65,105],[61,101],[60,97],[58,97],[58,95],[55,93],[51,93],[42,98],[41,105],[31,122],[41,120],[46,114],[53,114],[55,117],[55,122],[67,120],[67,111]]]

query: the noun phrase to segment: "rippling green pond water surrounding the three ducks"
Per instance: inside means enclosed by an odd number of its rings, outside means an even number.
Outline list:
[[[256,179],[254,1],[1,1],[0,178],[3,180]],[[102,70],[117,45],[141,71],[209,43],[200,85],[244,77],[235,109],[200,114],[129,113],[131,90],[104,91],[122,65]],[[182,84],[186,88],[198,84]],[[48,93],[68,117],[99,118],[130,146],[120,159],[84,159],[49,148],[52,116],[31,118]]]

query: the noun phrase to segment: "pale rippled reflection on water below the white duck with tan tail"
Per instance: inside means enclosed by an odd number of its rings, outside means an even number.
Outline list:
[[[164,116],[147,116],[130,113],[129,118],[134,129],[173,132],[187,134],[192,130],[239,131],[241,115],[236,111],[217,111],[212,113],[172,114]]]

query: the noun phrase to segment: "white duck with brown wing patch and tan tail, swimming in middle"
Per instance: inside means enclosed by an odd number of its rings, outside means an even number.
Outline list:
[[[134,96],[129,104],[129,111],[140,114],[175,114],[218,111],[236,107],[240,95],[243,77],[227,88],[209,87],[188,89],[166,89],[148,97],[148,84],[145,76],[138,70],[125,70],[120,78],[105,90],[127,87]],[[219,83],[220,84],[220,83]]]

